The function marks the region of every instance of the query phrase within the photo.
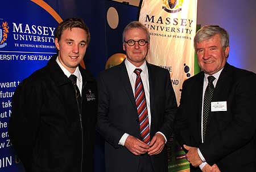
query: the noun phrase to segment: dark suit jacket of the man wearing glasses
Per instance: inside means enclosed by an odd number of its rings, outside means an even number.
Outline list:
[[[167,70],[147,63],[150,84],[150,136],[162,132],[168,139],[173,131],[176,99]],[[139,119],[125,62],[98,76],[97,130],[104,136],[106,171],[137,171],[139,157],[118,145],[125,132],[139,138]],[[151,157],[155,171],[167,171],[167,149]]]

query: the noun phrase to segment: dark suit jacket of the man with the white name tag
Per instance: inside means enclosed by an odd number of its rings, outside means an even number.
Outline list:
[[[211,111],[204,144],[201,109],[204,72],[184,81],[176,118],[180,143],[199,147],[209,165],[221,171],[256,171],[256,75],[226,63],[212,102],[226,101],[227,111]]]

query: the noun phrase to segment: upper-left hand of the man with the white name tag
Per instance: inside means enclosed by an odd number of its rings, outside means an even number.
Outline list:
[[[197,148],[189,147],[185,144],[183,146],[188,151],[186,156],[187,156],[187,160],[190,162],[190,164],[192,164],[194,167],[197,167],[203,163],[203,161],[199,157],[199,154],[197,153]]]

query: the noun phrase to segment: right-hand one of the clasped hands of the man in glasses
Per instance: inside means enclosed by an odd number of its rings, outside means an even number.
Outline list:
[[[160,153],[164,148],[165,142],[166,140],[164,139],[164,136],[162,134],[157,133],[156,135],[154,135],[149,144],[150,148],[148,149],[148,154],[151,156]]]

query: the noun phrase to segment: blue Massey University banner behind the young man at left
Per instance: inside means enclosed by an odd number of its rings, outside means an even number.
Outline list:
[[[24,171],[7,132],[11,98],[20,81],[56,54],[54,31],[61,19],[42,0],[2,1],[1,7],[0,171]]]

